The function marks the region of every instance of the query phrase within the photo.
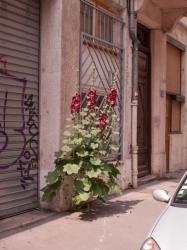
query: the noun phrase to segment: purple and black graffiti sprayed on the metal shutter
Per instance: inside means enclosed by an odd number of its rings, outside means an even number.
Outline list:
[[[20,172],[21,185],[26,188],[34,178],[31,170],[37,168],[38,161],[38,112],[34,103],[33,95],[26,94],[27,80],[20,79],[8,72],[6,56],[0,54],[1,81],[7,87],[0,91],[0,170],[17,166]],[[9,81],[19,83],[20,91],[16,93],[16,114],[11,114],[9,110],[13,107],[11,89]],[[20,84],[21,83],[21,84]],[[6,86],[4,84],[3,86]],[[1,111],[2,110],[2,111]],[[16,120],[12,117],[19,117]],[[11,117],[11,118],[10,118]],[[12,120],[11,120],[12,119]],[[19,139],[19,149],[15,149],[16,139]],[[14,146],[15,147],[15,146]],[[7,157],[8,154],[8,157]]]

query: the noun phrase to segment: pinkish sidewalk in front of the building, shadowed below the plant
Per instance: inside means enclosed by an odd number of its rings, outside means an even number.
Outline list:
[[[152,191],[173,193],[178,181],[155,181],[106,204],[97,202],[89,213],[76,212],[19,232],[1,239],[0,250],[138,250],[165,206],[153,200]]]

